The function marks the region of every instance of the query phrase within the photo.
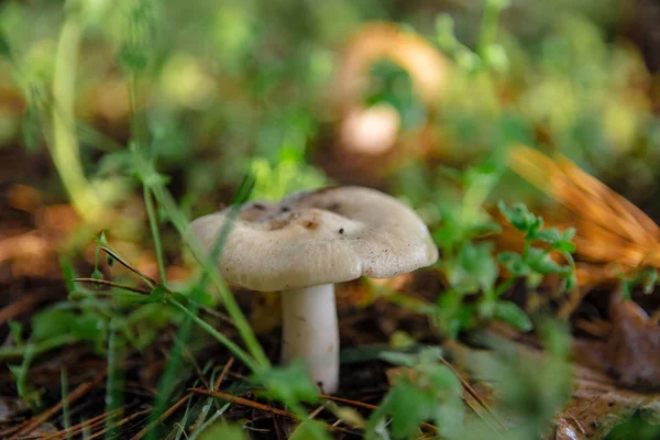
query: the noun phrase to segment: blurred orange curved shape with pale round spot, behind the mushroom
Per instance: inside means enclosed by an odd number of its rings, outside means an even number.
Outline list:
[[[340,117],[334,158],[351,168],[349,173],[367,179],[383,177],[402,160],[424,156],[436,138],[429,122],[400,133],[402,117],[393,106],[366,107],[361,101],[371,67],[382,59],[406,70],[429,114],[448,82],[449,62],[424,37],[383,22],[369,23],[353,34],[339,55],[332,87],[331,100]]]

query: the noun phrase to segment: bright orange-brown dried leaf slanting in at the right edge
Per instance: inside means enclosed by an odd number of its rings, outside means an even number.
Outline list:
[[[625,197],[560,154],[552,161],[536,150],[516,146],[509,157],[514,172],[574,215],[576,255],[601,265],[581,266],[581,285],[614,280],[617,271],[644,265],[660,268],[660,227]]]

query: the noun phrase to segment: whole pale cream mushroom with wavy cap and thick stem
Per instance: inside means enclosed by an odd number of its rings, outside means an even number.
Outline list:
[[[190,224],[206,255],[228,212]],[[282,362],[301,358],[311,378],[333,393],[339,385],[334,283],[363,275],[388,278],[437,260],[427,227],[410,208],[375,189],[346,186],[243,205],[218,265],[229,283],[282,290]]]

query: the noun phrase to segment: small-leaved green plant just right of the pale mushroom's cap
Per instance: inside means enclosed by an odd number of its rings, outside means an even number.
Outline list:
[[[438,268],[448,288],[438,298],[435,320],[441,332],[452,338],[491,320],[505,321],[521,331],[531,330],[527,314],[502,299],[518,279],[526,279],[527,286],[534,288],[544,276],[558,274],[564,279],[562,290],[571,289],[575,283],[571,257],[575,231],[543,228],[543,220],[522,204],[498,205],[506,220],[524,234],[521,254],[505,251],[495,255],[494,244],[484,240],[501,229],[484,209],[499,175],[493,165],[469,168],[455,177],[463,188],[463,199],[438,207],[441,224],[433,231],[433,238],[442,251]],[[539,248],[536,243],[546,245]],[[553,252],[563,255],[569,265],[556,263],[551,257]],[[501,265],[509,277],[497,283]]]

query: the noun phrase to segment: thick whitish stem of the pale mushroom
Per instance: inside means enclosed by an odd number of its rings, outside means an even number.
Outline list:
[[[311,380],[324,393],[339,386],[339,329],[334,285],[282,293],[282,362],[302,359]]]

